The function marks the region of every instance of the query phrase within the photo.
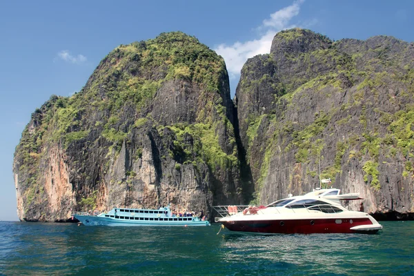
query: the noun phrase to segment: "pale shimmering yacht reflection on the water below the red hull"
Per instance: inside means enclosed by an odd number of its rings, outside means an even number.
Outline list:
[[[326,269],[335,274],[353,273],[355,267],[374,267],[380,262],[361,258],[362,247],[370,246],[371,242],[375,242],[375,237],[344,234],[224,237],[224,245],[233,248],[224,259],[303,266],[307,273],[324,273]]]

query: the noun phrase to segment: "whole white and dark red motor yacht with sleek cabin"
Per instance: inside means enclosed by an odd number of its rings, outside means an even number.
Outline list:
[[[377,233],[382,226],[371,215],[350,211],[340,203],[356,199],[362,198],[357,193],[340,195],[335,188],[319,189],[258,208],[229,206],[228,211],[234,215],[221,217],[217,222],[228,230],[244,233]],[[222,207],[215,206],[221,215]]]

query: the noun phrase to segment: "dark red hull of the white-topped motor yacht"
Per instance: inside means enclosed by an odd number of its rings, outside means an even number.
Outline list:
[[[357,231],[352,227],[373,224],[368,217],[355,219],[290,219],[222,221],[231,231],[250,233],[313,234],[313,233],[366,233],[378,230]]]

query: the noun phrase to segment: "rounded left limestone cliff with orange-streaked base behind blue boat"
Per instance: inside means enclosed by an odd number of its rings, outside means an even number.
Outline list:
[[[224,60],[194,37],[119,46],[81,92],[32,114],[14,155],[19,218],[242,202],[234,112]]]

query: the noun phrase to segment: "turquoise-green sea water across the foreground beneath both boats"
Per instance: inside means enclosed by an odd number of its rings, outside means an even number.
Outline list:
[[[377,235],[0,221],[0,275],[414,275],[414,221]]]

